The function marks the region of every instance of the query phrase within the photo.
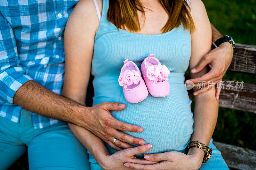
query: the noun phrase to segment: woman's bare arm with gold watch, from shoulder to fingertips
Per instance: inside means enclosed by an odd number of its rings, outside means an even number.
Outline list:
[[[212,32],[204,4],[201,0],[191,1],[191,16],[195,23],[196,30],[191,33],[191,57],[189,69],[193,69],[197,63],[211,50]],[[204,68],[199,73],[191,74],[192,78],[200,77],[207,72]],[[191,141],[200,141],[206,145],[209,144],[212,133],[217,121],[218,100],[215,98],[215,87],[204,93],[195,96],[194,110],[194,132]],[[139,165],[131,162],[125,163],[129,167],[137,170],[141,169],[199,169],[203,158],[204,151],[192,147],[188,155],[181,152],[165,152],[159,154],[144,155],[146,160],[161,161],[154,165]]]

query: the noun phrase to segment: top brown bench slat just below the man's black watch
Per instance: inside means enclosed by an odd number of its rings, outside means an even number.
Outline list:
[[[228,70],[256,74],[256,46],[237,43]]]

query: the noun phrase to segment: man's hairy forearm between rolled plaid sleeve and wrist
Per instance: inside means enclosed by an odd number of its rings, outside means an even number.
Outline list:
[[[83,127],[87,119],[87,107],[75,100],[55,94],[32,80],[17,90],[13,103],[39,115]]]

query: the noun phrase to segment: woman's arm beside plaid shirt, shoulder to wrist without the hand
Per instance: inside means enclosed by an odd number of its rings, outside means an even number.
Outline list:
[[[64,34],[65,78],[62,95],[82,104],[85,104],[95,31],[99,25],[96,22],[98,18],[97,14],[95,16],[92,3],[92,1],[80,1],[76,5],[68,18]],[[88,13],[86,12],[84,15],[82,10],[88,11]],[[90,24],[82,28],[82,22]],[[68,123],[68,125],[97,161],[100,162],[101,154],[109,155],[106,145],[100,138],[80,126],[72,123]],[[90,144],[93,144],[94,148]],[[100,152],[95,154],[96,151]]]

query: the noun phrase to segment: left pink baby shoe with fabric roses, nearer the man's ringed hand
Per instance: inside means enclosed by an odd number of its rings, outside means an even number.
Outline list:
[[[118,82],[123,86],[124,97],[128,102],[138,103],[147,98],[148,90],[145,82],[138,66],[132,61],[124,60]]]

